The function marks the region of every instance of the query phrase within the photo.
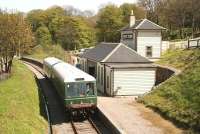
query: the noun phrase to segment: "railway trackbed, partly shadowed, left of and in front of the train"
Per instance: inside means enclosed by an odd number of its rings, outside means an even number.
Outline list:
[[[33,59],[31,59],[33,60]],[[26,65],[35,69],[33,71],[36,76],[46,79],[46,83],[40,83],[45,96],[46,104],[48,104],[48,120],[50,125],[50,133],[55,134],[101,134],[102,132],[95,125],[91,117],[88,117],[84,120],[74,120],[72,116],[66,117],[65,110],[60,105],[60,100],[58,99],[57,94],[55,95],[55,90],[52,90],[52,85],[50,81],[47,80],[45,73],[41,67],[41,63],[31,60],[23,61]],[[40,81],[39,82],[44,82]],[[45,85],[44,85],[45,84]],[[46,88],[45,88],[46,86]],[[47,89],[48,88],[48,89]],[[49,89],[51,88],[51,89]]]

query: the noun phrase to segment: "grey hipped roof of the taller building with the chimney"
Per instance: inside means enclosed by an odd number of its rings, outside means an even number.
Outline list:
[[[138,30],[165,30],[166,28],[159,26],[155,24],[154,22],[148,20],[148,19],[143,19],[143,20],[136,20],[135,25],[130,27],[129,25],[122,28],[121,31],[129,31],[132,29],[138,29]]]

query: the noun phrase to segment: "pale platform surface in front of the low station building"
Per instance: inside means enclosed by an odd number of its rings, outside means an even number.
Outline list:
[[[134,97],[98,97],[99,110],[124,134],[179,134],[182,130]]]

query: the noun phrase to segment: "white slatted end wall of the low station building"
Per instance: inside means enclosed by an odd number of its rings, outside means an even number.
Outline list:
[[[140,95],[148,92],[155,84],[154,68],[114,70],[115,95]]]

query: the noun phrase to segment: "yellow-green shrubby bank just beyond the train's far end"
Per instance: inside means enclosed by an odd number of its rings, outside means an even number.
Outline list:
[[[43,60],[46,57],[57,57],[62,60],[68,60],[68,53],[60,45],[36,46],[29,57]]]

